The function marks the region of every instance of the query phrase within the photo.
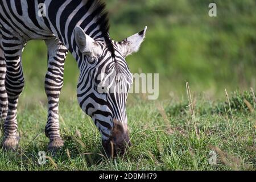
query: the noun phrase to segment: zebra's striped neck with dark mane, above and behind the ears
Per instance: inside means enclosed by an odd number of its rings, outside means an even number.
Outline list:
[[[85,34],[97,42],[109,45],[111,40],[108,35],[108,14],[104,13],[104,3],[92,0],[46,1],[52,32],[75,56],[76,60],[81,57],[73,35],[76,26],[80,26]]]

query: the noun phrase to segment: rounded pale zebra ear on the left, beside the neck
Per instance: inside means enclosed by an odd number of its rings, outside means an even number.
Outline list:
[[[102,50],[100,45],[89,35],[86,35],[81,27],[77,26],[74,30],[76,44],[80,51],[90,57],[100,56]]]

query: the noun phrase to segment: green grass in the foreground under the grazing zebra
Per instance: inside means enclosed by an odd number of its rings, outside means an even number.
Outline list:
[[[250,100],[253,94],[245,95],[230,95],[230,103],[246,97],[254,110],[255,104]],[[47,153],[52,160],[48,159],[43,166],[38,164],[38,152],[46,150],[48,144],[44,135],[46,105],[20,104],[19,150],[0,150],[0,170],[256,169],[256,115],[244,102],[234,102],[237,104],[231,105],[231,114],[227,102],[212,102],[197,96],[193,102],[193,118],[186,100],[148,102],[131,98],[136,100],[130,100],[127,106],[133,146],[124,156],[109,160],[100,155],[104,154],[100,134],[74,99],[60,103],[61,136],[65,146],[54,156]],[[224,107],[226,111],[222,112]],[[208,163],[212,148],[217,152],[216,166]]]

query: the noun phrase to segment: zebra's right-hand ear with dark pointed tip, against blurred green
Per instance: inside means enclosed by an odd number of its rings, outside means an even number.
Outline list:
[[[137,34],[134,34],[119,43],[123,56],[126,57],[131,55],[134,52],[139,51],[139,47],[141,47],[141,44],[145,38],[146,31],[147,31],[147,26],[141,32],[138,32]]]

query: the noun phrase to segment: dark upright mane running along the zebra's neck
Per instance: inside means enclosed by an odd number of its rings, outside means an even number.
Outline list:
[[[85,4],[89,3],[90,12],[97,17],[98,25],[100,26],[100,31],[105,39],[106,46],[112,53],[112,57],[115,57],[114,46],[112,40],[109,37],[109,12],[106,11],[106,3],[101,0],[82,0]]]

